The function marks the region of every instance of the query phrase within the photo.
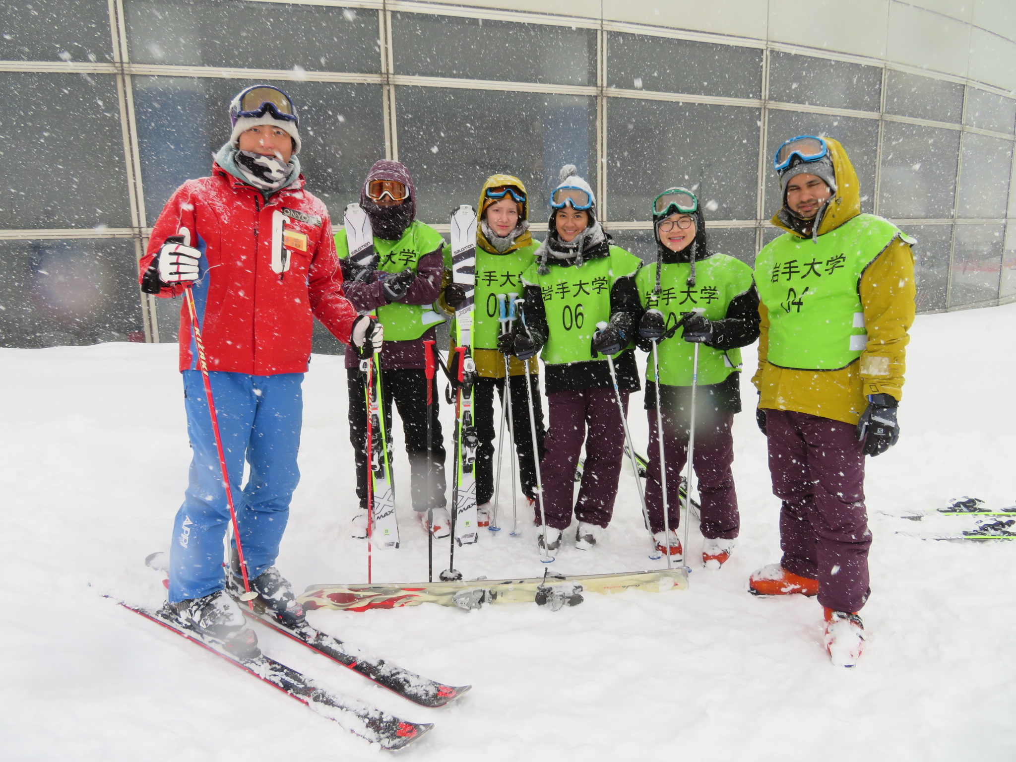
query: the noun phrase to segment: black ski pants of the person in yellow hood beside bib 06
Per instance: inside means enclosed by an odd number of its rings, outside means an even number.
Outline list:
[[[511,377],[511,415],[514,424],[515,453],[518,456],[519,483],[528,498],[536,497],[536,467],[532,461],[532,430],[529,427],[529,403],[525,397],[526,378],[529,379],[529,394],[536,421],[536,446],[539,457],[544,457],[544,407],[539,395],[539,376],[522,374]],[[477,416],[477,504],[491,502],[494,497],[494,440],[501,431],[503,408],[494,410],[494,391],[499,398],[504,397],[503,378],[477,379],[472,391],[472,404]],[[507,425],[505,431],[507,432]],[[505,434],[507,438],[508,434]],[[510,456],[509,456],[510,457]],[[510,468],[510,463],[502,462],[502,469]]]

